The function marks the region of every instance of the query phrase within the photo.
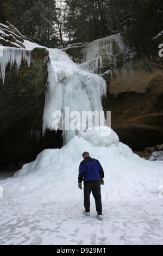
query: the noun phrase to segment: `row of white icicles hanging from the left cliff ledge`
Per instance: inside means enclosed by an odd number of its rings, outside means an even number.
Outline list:
[[[18,72],[22,60],[30,66],[31,60],[31,50],[26,50],[23,48],[14,48],[14,47],[3,47],[3,54],[0,56],[0,79],[5,80],[5,69],[10,63],[10,69],[15,64],[15,68]]]

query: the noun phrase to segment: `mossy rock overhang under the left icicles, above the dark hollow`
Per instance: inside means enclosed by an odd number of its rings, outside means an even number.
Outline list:
[[[0,80],[0,131],[7,130],[19,121],[24,114],[37,108],[40,99],[44,98],[47,81],[48,51],[35,48],[31,54],[31,62],[22,60],[20,69],[10,64],[5,71],[4,84]]]

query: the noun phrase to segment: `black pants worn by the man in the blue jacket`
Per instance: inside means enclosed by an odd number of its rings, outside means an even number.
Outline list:
[[[93,194],[96,203],[96,211],[98,215],[102,215],[101,202],[101,182],[100,180],[84,182],[84,207],[86,212],[90,212],[90,194]]]

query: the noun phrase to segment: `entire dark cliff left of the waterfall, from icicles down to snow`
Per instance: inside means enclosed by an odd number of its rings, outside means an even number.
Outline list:
[[[55,134],[42,138],[48,59],[46,48],[35,48],[30,66],[23,60],[18,72],[15,64],[6,66],[4,84],[0,80],[0,169],[21,168],[43,149],[61,147]]]

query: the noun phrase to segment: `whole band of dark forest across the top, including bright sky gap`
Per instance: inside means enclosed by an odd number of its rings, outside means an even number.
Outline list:
[[[153,37],[162,31],[162,0],[1,1],[2,21],[48,47],[121,33],[142,54],[152,50]]]

